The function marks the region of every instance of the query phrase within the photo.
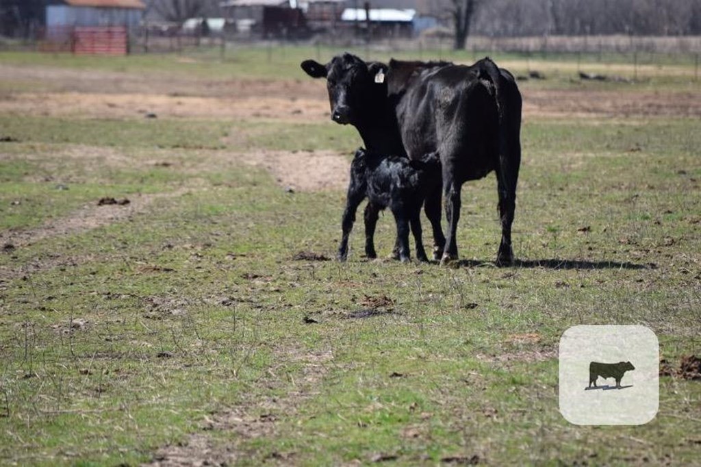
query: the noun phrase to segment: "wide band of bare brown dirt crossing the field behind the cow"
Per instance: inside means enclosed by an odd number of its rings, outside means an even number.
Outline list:
[[[322,81],[297,79],[195,80],[116,72],[0,65],[0,79],[40,81],[46,92],[0,94],[0,112],[86,118],[279,119],[328,121]],[[701,116],[701,95],[686,91],[627,93],[587,86],[533,89],[521,86],[524,117]]]

